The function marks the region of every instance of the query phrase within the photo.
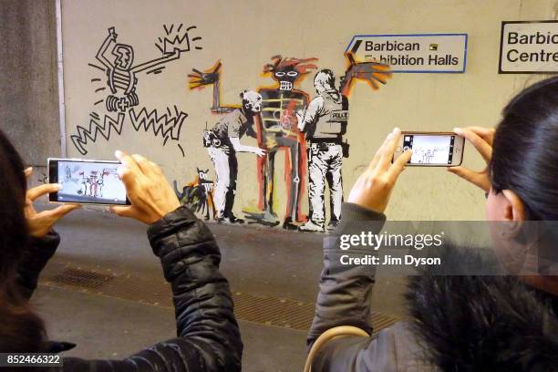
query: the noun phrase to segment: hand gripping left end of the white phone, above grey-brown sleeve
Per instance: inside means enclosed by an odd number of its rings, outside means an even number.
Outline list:
[[[398,128],[389,133],[368,165],[367,171],[356,180],[347,202],[356,203],[375,212],[382,213],[386,210],[389,195],[411,157],[411,150],[407,150],[391,162],[400,137],[401,130]]]

